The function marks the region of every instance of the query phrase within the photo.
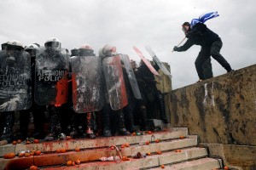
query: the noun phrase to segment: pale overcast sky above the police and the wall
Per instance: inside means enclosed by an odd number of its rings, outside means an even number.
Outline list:
[[[221,54],[238,70],[256,63],[255,7],[255,0],[1,0],[0,43],[44,45],[49,37],[56,37],[62,48],[88,43],[96,54],[108,43],[136,60],[132,47],[152,59],[144,48],[149,45],[171,65],[176,89],[198,81],[194,63],[200,46],[172,53],[184,37],[183,22],[218,11],[219,17],[206,24],[222,38]],[[214,77],[226,72],[214,59],[212,67]]]

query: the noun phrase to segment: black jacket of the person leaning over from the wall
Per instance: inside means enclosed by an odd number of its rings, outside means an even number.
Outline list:
[[[176,49],[176,51],[186,51],[193,45],[200,45],[202,48],[210,48],[212,42],[219,39],[218,34],[207,28],[202,23],[196,24],[191,31],[188,31],[187,42]]]

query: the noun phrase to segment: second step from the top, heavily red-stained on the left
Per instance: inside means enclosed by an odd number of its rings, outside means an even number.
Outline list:
[[[195,139],[169,139],[165,141],[160,141],[160,143],[150,143],[150,144],[132,144],[130,147],[119,148],[120,152],[117,150],[111,150],[111,148],[96,148],[96,149],[83,149],[79,152],[75,150],[67,151],[66,153],[56,153],[49,152],[41,154],[40,156],[31,157],[15,157],[14,159],[0,159],[0,168],[9,167],[18,168],[22,166],[23,168],[30,167],[32,163],[39,167],[45,166],[55,166],[65,164],[68,160],[79,160],[82,162],[88,161],[98,161],[100,157],[109,156],[135,156],[137,152],[146,155],[150,152],[151,155],[156,155],[157,151],[166,152],[170,150],[177,150],[181,148],[188,148],[195,146]],[[187,152],[183,152],[186,154]],[[190,152],[188,152],[190,153]],[[189,155],[188,155],[189,156]],[[50,157],[50,158],[49,158]],[[165,161],[165,159],[161,160]],[[20,164],[22,162],[22,165]]]

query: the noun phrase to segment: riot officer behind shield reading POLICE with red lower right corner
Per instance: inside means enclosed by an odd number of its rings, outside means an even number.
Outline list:
[[[62,105],[67,103],[69,52],[61,42],[50,37],[36,58],[35,102],[48,105],[49,130],[45,140],[53,140],[63,133],[61,127]],[[63,126],[67,127],[67,126]]]

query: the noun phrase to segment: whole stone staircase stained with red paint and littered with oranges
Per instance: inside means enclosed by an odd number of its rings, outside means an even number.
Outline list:
[[[156,139],[160,139],[160,142]],[[41,150],[42,153],[39,156],[3,158],[3,155],[9,152],[18,155],[21,150]],[[61,151],[63,153],[58,153]],[[0,156],[0,169],[15,170],[29,169],[32,165],[40,169],[89,170],[222,168],[222,160],[207,157],[207,148],[197,147],[197,136],[189,136],[186,127],[173,127],[164,132],[144,133],[138,136],[6,144],[0,146]],[[120,157],[123,159],[118,159]],[[113,161],[100,161],[100,158]],[[67,161],[77,160],[80,164],[67,166]]]

